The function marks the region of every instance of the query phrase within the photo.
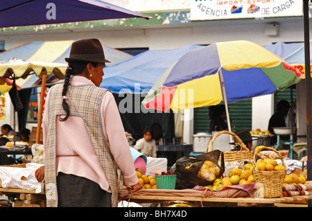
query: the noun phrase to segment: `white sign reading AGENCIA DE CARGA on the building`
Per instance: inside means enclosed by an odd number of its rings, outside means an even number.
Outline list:
[[[191,0],[191,21],[303,16],[302,0]]]

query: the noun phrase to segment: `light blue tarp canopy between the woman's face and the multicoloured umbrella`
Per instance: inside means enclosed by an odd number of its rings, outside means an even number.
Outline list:
[[[119,64],[105,67],[100,87],[115,94],[147,93],[168,67],[188,51],[200,47],[190,44],[181,48],[145,51]]]

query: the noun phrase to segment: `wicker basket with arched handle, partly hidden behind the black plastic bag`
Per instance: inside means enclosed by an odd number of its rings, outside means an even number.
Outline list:
[[[250,151],[248,148],[246,148],[246,145],[243,143],[243,141],[241,141],[239,136],[237,136],[233,132],[229,132],[227,130],[220,131],[216,135],[214,135],[214,137],[209,142],[209,145],[208,145],[208,148],[207,148],[206,152],[212,151],[212,145],[214,144],[214,141],[221,134],[230,134],[230,135],[234,136],[234,139],[236,139],[238,144],[241,146],[241,150],[237,150],[237,151],[223,151],[224,161],[225,162],[243,161],[245,159],[253,159],[253,157],[254,157],[253,152]]]

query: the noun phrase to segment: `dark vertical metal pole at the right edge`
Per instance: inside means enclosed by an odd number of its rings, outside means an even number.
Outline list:
[[[311,69],[310,69],[310,26],[309,26],[309,0],[304,0],[304,64],[306,78],[306,142],[308,149],[308,160],[306,171],[308,180],[312,179],[312,116],[311,116]],[[312,207],[311,200],[308,206]]]

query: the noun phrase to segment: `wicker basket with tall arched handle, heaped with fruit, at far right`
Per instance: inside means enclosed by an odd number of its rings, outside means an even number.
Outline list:
[[[258,190],[258,197],[261,198],[275,198],[282,196],[283,184],[284,179],[286,176],[286,166],[281,158],[281,163],[285,167],[285,170],[272,170],[272,171],[261,171],[255,170],[256,169],[256,161],[257,161],[257,154],[262,149],[268,149],[275,151],[279,157],[281,155],[277,152],[274,148],[259,146],[254,150],[254,159],[253,159],[253,174],[254,179],[257,182],[257,190]]]

